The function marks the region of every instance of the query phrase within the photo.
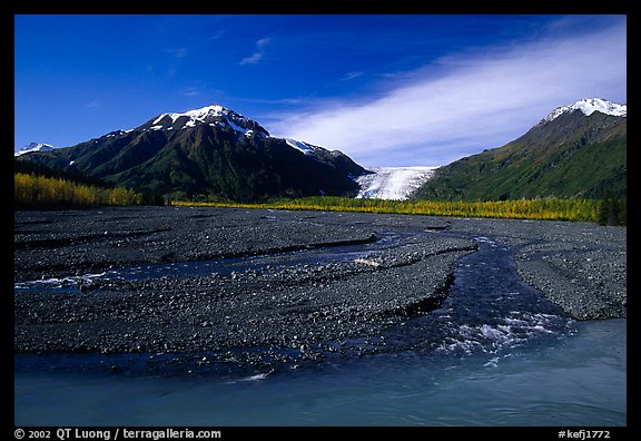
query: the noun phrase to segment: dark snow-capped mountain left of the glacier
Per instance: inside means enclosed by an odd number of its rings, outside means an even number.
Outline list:
[[[363,167],[338,150],[275,138],[219,105],[161,114],[72,147],[21,155],[152,195],[240,202],[312,195],[355,196]]]

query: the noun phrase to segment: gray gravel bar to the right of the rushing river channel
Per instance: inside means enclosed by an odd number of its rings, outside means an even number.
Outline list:
[[[457,219],[516,249],[521,277],[576,320],[625,317],[628,229],[591,223]]]

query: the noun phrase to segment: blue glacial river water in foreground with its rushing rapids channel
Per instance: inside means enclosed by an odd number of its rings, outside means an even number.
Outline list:
[[[517,277],[513,251],[475,239],[446,301],[364,355],[268,371],[16,355],[14,423],[627,425],[627,321],[570,320]],[[105,367],[124,357],[138,367]]]

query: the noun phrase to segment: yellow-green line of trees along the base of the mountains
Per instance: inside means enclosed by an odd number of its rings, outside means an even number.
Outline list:
[[[14,173],[13,200],[17,207],[75,207],[101,205],[158,205],[158,197],[145,197],[131,189],[76,183],[62,177]],[[514,219],[580,220],[601,225],[627,225],[627,198],[519,199],[519,200],[388,200],[337,196],[275,199],[243,204],[231,200],[171,200],[171,205],[273,208],[296,210],[362,212],[428,216],[495,217]]]

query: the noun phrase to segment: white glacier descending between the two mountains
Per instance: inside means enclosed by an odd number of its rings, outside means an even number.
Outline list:
[[[369,175],[358,176],[356,198],[405,200],[434,175],[437,167],[371,167]]]

